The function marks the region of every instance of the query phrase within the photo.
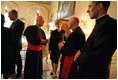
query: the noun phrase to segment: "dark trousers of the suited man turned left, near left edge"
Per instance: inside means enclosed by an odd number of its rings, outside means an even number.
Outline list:
[[[15,50],[14,51],[14,62],[13,64],[11,64],[11,70],[10,73],[13,74],[15,73],[15,64],[17,66],[17,75],[20,75],[22,72],[22,59],[21,59],[21,55],[20,55],[20,50]]]

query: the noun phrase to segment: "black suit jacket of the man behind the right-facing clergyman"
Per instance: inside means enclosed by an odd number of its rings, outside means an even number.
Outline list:
[[[16,22],[12,23],[10,29],[15,39],[14,44],[16,45],[16,48],[21,50],[22,49],[21,36],[24,30],[24,23],[18,19]]]

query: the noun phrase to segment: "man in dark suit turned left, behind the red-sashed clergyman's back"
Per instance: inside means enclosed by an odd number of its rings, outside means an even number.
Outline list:
[[[13,70],[11,70],[11,74],[15,73],[15,64],[17,64],[16,78],[18,78],[22,72],[22,59],[20,55],[20,50],[22,49],[21,36],[24,30],[24,23],[18,19],[18,12],[16,10],[9,11],[9,18],[10,20],[13,20],[10,29],[15,38],[14,44],[16,45],[16,49],[14,49],[15,61],[12,67]]]

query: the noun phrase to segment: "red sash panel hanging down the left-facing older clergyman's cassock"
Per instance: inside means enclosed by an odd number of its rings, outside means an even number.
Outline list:
[[[73,62],[73,56],[65,56],[61,72],[61,79],[68,79],[72,62]]]

